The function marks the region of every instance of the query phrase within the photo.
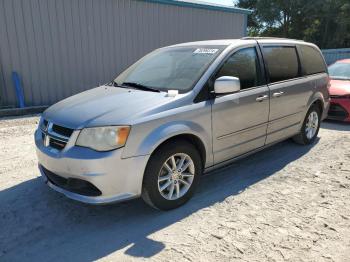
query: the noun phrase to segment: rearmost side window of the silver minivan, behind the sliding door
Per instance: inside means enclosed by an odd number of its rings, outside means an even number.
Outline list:
[[[303,74],[312,75],[327,72],[326,65],[320,52],[311,46],[301,45],[301,64]]]

